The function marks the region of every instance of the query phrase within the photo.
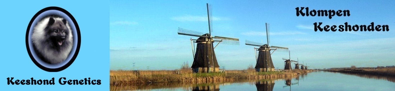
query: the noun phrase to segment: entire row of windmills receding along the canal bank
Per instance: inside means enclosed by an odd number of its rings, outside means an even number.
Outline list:
[[[231,44],[231,45],[239,45],[239,39],[237,38],[228,38],[221,36],[212,36],[211,32],[213,32],[213,21],[212,21],[212,8],[210,4],[207,4],[207,17],[209,23],[209,33],[203,34],[202,32],[196,32],[192,30],[186,30],[183,28],[178,28],[178,34],[187,35],[187,36],[195,36],[199,37],[198,39],[190,39],[191,47],[192,47],[192,55],[194,56],[194,62],[191,66],[192,71],[195,73],[205,73],[205,72],[219,72],[219,65],[215,56],[214,48],[218,46],[218,44]],[[278,46],[269,46],[270,43],[270,25],[266,23],[266,39],[267,44],[252,42],[246,40],[246,45],[257,46],[259,48],[254,47],[255,58],[256,58],[256,72],[271,72],[274,71],[275,67],[273,65],[273,61],[271,59],[271,54],[275,51],[280,52],[288,52],[287,47],[278,47]],[[216,46],[214,46],[214,42],[218,42]],[[194,46],[196,44],[196,50],[194,50]],[[270,51],[273,50],[271,53]],[[258,53],[257,53],[258,52]],[[292,70],[291,63],[297,62],[295,64],[295,69],[299,69],[299,65],[301,65],[301,70],[306,69],[308,66],[304,66],[303,64],[299,64],[299,61],[292,61],[289,59],[283,58],[285,62],[284,70]]]

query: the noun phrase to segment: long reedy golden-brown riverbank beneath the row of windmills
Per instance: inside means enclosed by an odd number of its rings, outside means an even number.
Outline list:
[[[188,71],[188,70],[186,70]],[[235,79],[256,79],[296,76],[312,70],[291,70],[287,72],[254,72],[248,70],[227,70],[225,73],[190,73],[176,74],[174,70],[110,70],[110,85],[132,85],[138,83],[163,82],[215,82]]]

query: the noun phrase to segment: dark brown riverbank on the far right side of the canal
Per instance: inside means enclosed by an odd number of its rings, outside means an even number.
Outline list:
[[[359,68],[359,69],[362,69],[362,68]],[[324,71],[341,72],[341,73],[371,74],[371,75],[380,75],[380,76],[395,76],[395,68],[378,68],[378,70],[374,70],[374,71],[354,71],[354,70],[324,70]]]

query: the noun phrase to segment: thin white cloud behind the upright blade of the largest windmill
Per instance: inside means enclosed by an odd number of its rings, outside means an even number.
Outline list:
[[[207,16],[193,16],[193,15],[171,17],[171,19],[175,21],[208,21]],[[213,21],[222,21],[222,20],[228,20],[228,18],[213,17]]]

